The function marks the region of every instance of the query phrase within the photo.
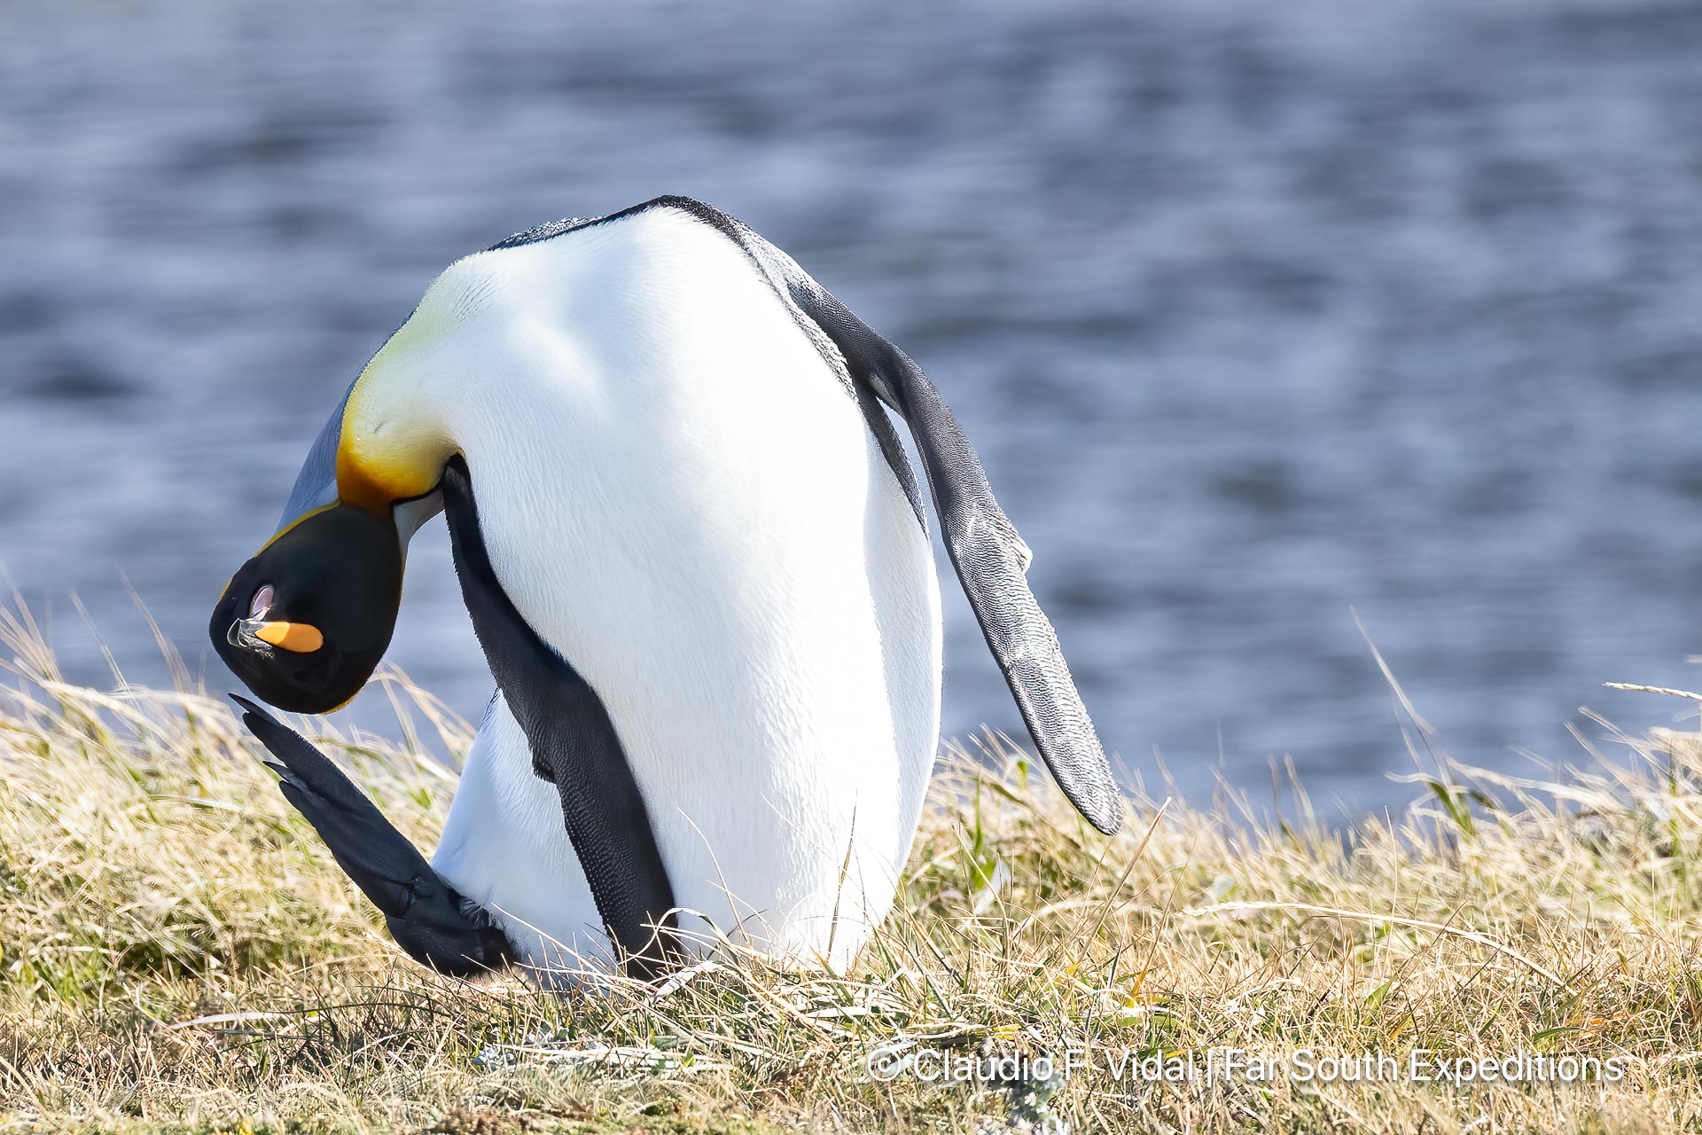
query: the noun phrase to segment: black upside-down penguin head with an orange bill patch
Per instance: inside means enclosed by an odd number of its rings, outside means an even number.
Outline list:
[[[337,502],[288,524],[242,565],[208,633],[259,698],[293,713],[328,713],[385,657],[400,604],[395,519]]]

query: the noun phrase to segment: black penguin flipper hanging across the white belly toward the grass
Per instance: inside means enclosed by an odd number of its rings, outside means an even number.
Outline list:
[[[562,796],[567,837],[628,972],[655,977],[676,958],[674,888],[614,723],[591,684],[526,625],[502,590],[461,458],[444,470],[443,505],[473,633],[526,733],[533,771]]]

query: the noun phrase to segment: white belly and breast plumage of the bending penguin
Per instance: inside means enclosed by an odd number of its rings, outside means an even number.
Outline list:
[[[933,767],[940,594],[788,301],[720,231],[652,208],[458,262],[368,385],[363,429],[466,454],[497,577],[603,698],[681,907],[844,965],[892,904]],[[434,866],[529,961],[558,960],[551,941],[608,956],[500,699]]]

